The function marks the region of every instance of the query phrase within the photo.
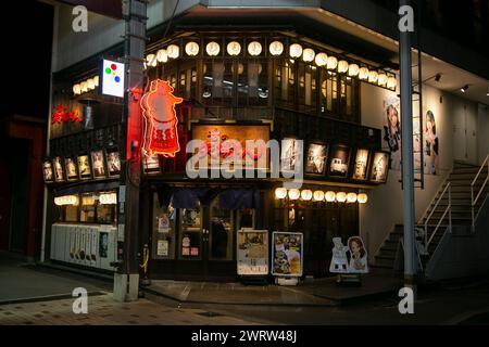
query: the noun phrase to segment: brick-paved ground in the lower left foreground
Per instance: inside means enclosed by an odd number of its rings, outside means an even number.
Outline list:
[[[118,303],[112,294],[88,297],[88,313],[75,314],[73,299],[0,306],[0,325],[252,325],[255,322],[202,309],[170,307],[145,298]]]

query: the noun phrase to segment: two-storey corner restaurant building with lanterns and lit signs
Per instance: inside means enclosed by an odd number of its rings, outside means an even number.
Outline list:
[[[300,253],[301,270],[294,273],[302,279],[331,275],[334,237],[346,243],[361,236],[369,264],[385,266],[376,255],[402,221],[396,42],[323,5],[258,10],[190,2],[171,20],[173,1],[154,1],[148,11],[138,183],[138,246],[141,264],[148,256],[147,275],[236,281],[277,274],[273,232],[298,237],[289,243]],[[70,38],[73,54],[79,53],[76,44],[90,41],[63,31],[70,7],[57,8],[57,49],[67,49]],[[106,95],[102,83],[124,82],[124,51],[118,41],[109,44],[117,21],[90,18],[103,47],[95,42],[92,54],[80,59],[61,53],[53,68],[45,252],[57,264],[111,272],[124,202],[124,99]],[[455,74],[428,53],[423,59],[429,62],[425,74],[443,69],[447,80],[473,78],[489,91],[484,77]],[[454,160],[481,165],[487,154],[480,133],[464,139],[466,156],[453,145],[462,136],[452,131],[462,114],[465,136],[476,124],[489,131],[481,97],[468,100],[432,83],[428,79],[422,87],[422,112],[414,105],[419,220]],[[186,151],[192,140],[201,144]],[[279,152],[246,147],[256,140],[278,141]],[[216,169],[237,153],[244,166]],[[193,155],[208,177],[191,175],[187,164]],[[243,167],[250,177],[236,177]],[[227,179],[226,172],[235,176]],[[284,188],[302,172],[301,187]],[[251,241],[243,230],[256,231],[253,237],[267,233]],[[253,242],[266,248],[267,262],[240,268],[246,262],[240,250]]]

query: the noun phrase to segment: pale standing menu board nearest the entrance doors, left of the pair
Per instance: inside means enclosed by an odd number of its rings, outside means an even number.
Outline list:
[[[268,230],[239,230],[237,247],[238,275],[268,274]]]

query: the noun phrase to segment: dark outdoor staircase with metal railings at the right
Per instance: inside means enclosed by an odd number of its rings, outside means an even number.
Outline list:
[[[474,232],[475,220],[489,193],[488,171],[489,156],[480,167],[454,164],[450,176],[416,224],[416,241],[423,269],[426,269],[443,234],[451,232],[454,226],[466,226]],[[372,267],[394,270],[402,236],[402,224],[394,226],[375,255]]]

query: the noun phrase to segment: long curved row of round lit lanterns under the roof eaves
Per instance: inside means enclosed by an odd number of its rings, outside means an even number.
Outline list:
[[[268,47],[269,53],[273,56],[280,56],[284,54],[284,43],[280,41],[273,41]],[[188,56],[196,56],[199,54],[200,46],[195,41],[185,44],[185,53]],[[231,41],[226,46],[226,52],[230,56],[239,55],[242,51],[241,43]],[[251,56],[258,56],[262,53],[263,47],[259,41],[248,43],[248,53]],[[221,52],[220,43],[211,41],[205,44],[205,53],[209,56],[216,56]],[[170,44],[166,49],[159,50],[155,54],[148,54],[146,57],[146,67],[154,67],[158,63],[166,63],[171,59],[180,56],[180,48],[177,44]],[[329,70],[337,70],[340,74],[347,74],[350,77],[358,77],[360,80],[368,81],[369,83],[386,87],[396,90],[398,80],[393,76],[388,76],[383,72],[369,70],[365,66],[359,66],[355,63],[349,63],[346,60],[338,60],[334,55],[328,55],[324,52],[316,53],[311,48],[303,49],[299,43],[292,43],[289,47],[289,56],[291,59],[301,59],[305,63],[315,63],[319,67],[325,67]]]

